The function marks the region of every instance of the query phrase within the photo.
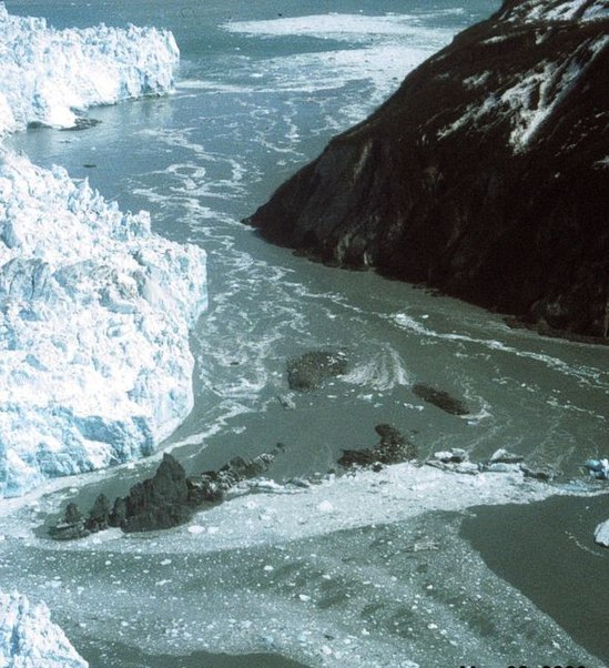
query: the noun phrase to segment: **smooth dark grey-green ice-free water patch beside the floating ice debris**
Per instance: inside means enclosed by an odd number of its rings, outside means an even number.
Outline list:
[[[609,551],[590,543],[607,497],[551,498],[526,507],[473,508],[463,535],[485,561],[609,664],[602,595]],[[532,659],[534,657],[531,657]]]

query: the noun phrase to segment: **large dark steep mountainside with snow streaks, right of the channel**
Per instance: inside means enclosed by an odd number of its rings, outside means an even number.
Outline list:
[[[540,326],[609,334],[609,7],[505,0],[246,222]]]

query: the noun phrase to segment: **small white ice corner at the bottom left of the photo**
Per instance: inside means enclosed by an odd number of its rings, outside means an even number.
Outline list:
[[[0,666],[3,668],[87,668],[89,664],[51,621],[44,604],[0,591]]]

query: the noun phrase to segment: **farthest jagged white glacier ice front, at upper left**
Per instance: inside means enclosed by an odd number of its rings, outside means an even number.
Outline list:
[[[166,93],[179,60],[169,31],[55,30],[0,2],[0,136],[29,123],[70,128],[92,104]]]

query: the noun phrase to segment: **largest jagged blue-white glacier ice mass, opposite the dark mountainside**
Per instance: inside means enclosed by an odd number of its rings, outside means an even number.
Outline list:
[[[0,497],[149,454],[192,408],[205,253],[0,155]]]

